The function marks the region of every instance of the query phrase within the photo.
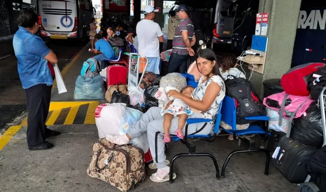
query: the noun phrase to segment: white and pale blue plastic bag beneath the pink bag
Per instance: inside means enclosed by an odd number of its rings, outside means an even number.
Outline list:
[[[268,129],[273,129],[276,131],[282,131],[282,132],[287,133],[288,126],[289,126],[288,119],[282,118],[282,125],[279,126],[280,115],[279,115],[278,111],[266,107],[266,113],[267,113],[267,116],[269,117]]]

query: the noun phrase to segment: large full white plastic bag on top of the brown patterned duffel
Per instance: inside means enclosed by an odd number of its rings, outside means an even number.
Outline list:
[[[106,135],[122,135],[137,123],[143,113],[137,109],[126,107],[124,103],[104,103],[95,109],[95,123],[100,139]]]

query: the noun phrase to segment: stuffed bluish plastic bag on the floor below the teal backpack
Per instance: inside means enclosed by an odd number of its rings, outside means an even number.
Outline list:
[[[105,98],[104,81],[101,75],[93,78],[79,75],[76,79],[74,99],[103,100]]]

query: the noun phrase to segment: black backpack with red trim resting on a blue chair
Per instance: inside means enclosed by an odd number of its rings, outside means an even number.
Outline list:
[[[226,80],[226,90],[227,96],[232,97],[236,105],[236,124],[252,123],[254,121],[244,118],[265,115],[264,106],[249,80],[233,76],[233,79]]]

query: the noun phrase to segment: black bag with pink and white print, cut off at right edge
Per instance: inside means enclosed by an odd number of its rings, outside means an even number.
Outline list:
[[[315,81],[316,77],[313,77],[314,74],[321,76],[319,77],[318,82]],[[322,88],[326,86],[326,68],[325,67],[318,68],[318,71],[315,71],[309,75],[307,81],[308,81],[307,84],[308,84],[308,90],[310,91],[310,96],[313,99],[318,100]]]

